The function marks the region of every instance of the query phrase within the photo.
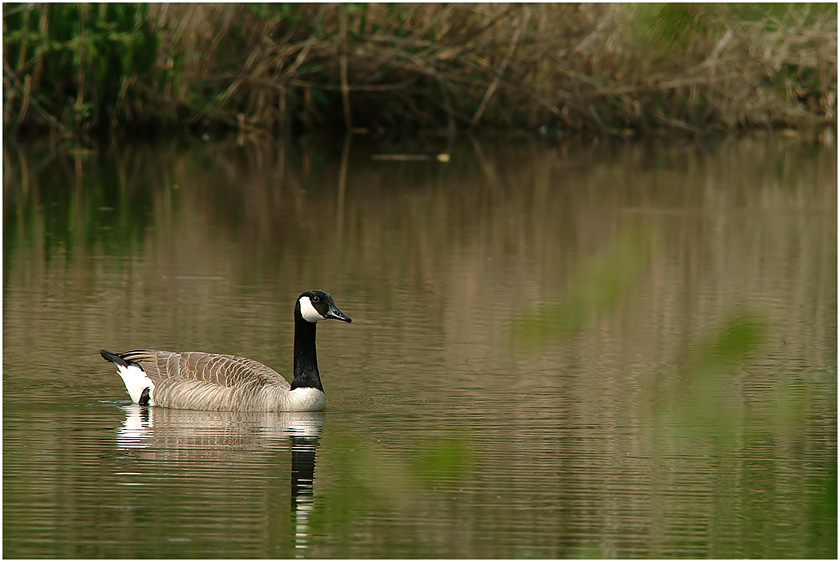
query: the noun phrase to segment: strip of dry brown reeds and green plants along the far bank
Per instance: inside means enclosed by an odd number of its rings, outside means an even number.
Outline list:
[[[836,129],[836,4],[4,4],[7,135]]]

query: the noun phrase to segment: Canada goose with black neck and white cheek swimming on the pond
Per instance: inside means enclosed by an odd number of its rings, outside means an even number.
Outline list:
[[[329,293],[306,291],[295,303],[295,378],[290,385],[277,371],[234,355],[100,350],[116,364],[131,399],[141,405],[190,410],[320,411],[326,406],[318,360],[315,323],[334,318],[350,322]]]

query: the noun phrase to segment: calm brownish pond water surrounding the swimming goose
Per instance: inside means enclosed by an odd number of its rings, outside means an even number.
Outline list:
[[[438,152],[451,161],[383,160]],[[837,163],[713,146],[4,149],[3,555],[837,556]],[[132,405],[100,348],[322,414]]]

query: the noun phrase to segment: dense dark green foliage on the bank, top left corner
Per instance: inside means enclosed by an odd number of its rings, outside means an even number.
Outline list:
[[[151,77],[158,37],[147,12],[145,4],[6,5],[5,62],[66,124],[110,123],[122,116],[132,89]],[[13,101],[9,88],[3,95]]]

